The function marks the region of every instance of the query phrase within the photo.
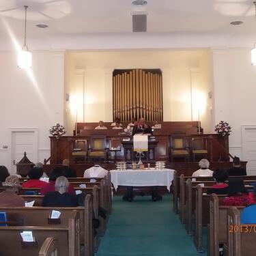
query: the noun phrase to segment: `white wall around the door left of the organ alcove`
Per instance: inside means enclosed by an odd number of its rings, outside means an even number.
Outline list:
[[[10,128],[38,128],[38,161],[50,156],[49,128],[63,124],[63,52],[33,52],[31,72],[0,52],[0,162],[10,168]],[[7,149],[3,149],[7,145]]]

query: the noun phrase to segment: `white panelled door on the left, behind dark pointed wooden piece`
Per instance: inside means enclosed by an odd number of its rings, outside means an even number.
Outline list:
[[[37,130],[11,130],[11,171],[16,173],[16,163],[27,153],[31,162],[38,160]]]

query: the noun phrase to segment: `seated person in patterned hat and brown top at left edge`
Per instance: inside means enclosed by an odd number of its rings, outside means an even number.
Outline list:
[[[25,200],[20,197],[18,191],[20,190],[20,182],[18,177],[10,175],[2,183],[5,190],[0,193],[0,206],[1,207],[20,207],[25,206]]]

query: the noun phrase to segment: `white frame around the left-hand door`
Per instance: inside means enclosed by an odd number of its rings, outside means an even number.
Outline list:
[[[10,172],[12,172],[12,154],[13,154],[13,148],[12,148],[12,138],[14,132],[33,132],[33,143],[35,145],[35,159],[38,160],[38,128],[30,128],[30,127],[20,127],[20,128],[9,128],[9,163],[10,163]],[[15,173],[16,174],[16,173]]]

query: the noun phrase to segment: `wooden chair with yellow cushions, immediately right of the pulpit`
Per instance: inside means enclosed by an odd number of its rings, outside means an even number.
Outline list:
[[[170,158],[171,162],[175,158],[184,158],[184,160],[189,160],[189,147],[186,140],[186,134],[173,134],[171,135],[171,148],[170,148]]]

